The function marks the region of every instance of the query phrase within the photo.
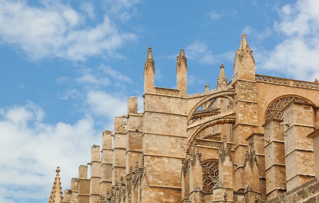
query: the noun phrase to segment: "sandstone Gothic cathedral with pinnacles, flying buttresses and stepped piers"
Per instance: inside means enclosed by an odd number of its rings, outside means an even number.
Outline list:
[[[232,78],[221,64],[216,89],[187,94],[184,51],[170,89],[149,47],[143,111],[129,97],[64,194],[57,168],[49,203],[319,202],[318,80],[256,74],[244,34],[234,54]]]

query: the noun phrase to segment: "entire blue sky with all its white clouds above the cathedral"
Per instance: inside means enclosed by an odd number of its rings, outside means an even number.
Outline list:
[[[188,93],[228,81],[241,33],[256,73],[319,76],[319,2],[0,0],[0,202],[46,202],[61,167],[63,189],[90,161],[104,129],[143,111],[147,47],[155,86],[176,86],[176,56],[188,58]]]

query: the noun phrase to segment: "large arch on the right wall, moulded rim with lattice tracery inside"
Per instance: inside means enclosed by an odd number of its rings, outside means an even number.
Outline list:
[[[271,119],[283,120],[283,113],[281,110],[291,103],[291,101],[303,104],[313,104],[309,99],[299,95],[283,95],[277,97],[268,105],[264,114],[264,121],[268,122]]]

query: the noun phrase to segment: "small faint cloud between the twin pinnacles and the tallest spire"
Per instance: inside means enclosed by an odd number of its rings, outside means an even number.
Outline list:
[[[200,41],[195,41],[185,49],[188,59],[198,60],[203,64],[221,63],[223,60],[232,61],[234,51],[228,51],[221,54],[214,54],[208,49],[208,46]]]

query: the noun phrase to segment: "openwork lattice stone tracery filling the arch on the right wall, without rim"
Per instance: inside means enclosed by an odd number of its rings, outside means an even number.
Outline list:
[[[287,97],[279,98],[267,110],[265,122],[271,119],[283,120],[283,113],[281,112],[281,110],[293,101],[302,103],[302,104],[310,104],[305,99],[302,99],[296,96],[287,96]]]

